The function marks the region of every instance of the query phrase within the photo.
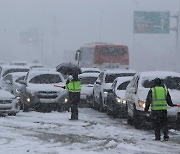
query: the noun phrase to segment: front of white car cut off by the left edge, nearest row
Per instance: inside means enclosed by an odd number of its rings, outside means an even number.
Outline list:
[[[20,110],[18,100],[9,91],[0,87],[0,115],[16,115]]]

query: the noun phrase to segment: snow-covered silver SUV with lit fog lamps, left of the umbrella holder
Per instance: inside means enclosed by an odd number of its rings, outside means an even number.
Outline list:
[[[20,83],[23,85],[20,89],[23,111],[69,110],[64,78],[55,69],[32,69]]]

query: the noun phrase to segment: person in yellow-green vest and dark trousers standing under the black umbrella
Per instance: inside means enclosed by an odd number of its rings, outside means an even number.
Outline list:
[[[78,74],[73,74],[73,78],[67,80],[66,89],[69,92],[69,103],[71,107],[70,120],[78,120],[78,103],[81,92],[81,81],[78,79]]]

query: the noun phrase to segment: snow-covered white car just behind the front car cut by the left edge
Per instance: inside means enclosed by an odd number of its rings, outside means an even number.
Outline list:
[[[19,96],[19,89],[21,84],[19,83],[20,80],[24,80],[27,72],[14,72],[5,75],[2,78],[2,86],[4,89],[8,90],[15,96]]]

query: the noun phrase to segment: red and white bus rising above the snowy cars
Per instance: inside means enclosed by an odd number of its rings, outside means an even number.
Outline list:
[[[76,51],[75,59],[81,67],[129,68],[129,52],[126,45],[86,44]]]

